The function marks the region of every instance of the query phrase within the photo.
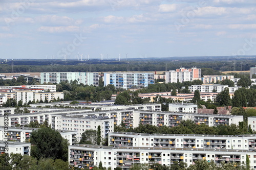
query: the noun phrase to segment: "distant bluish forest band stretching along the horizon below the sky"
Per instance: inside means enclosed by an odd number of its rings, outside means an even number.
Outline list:
[[[52,71],[168,71],[179,67],[211,68],[218,71],[249,70],[256,65],[256,57],[180,57],[180,58],[141,58],[119,60],[32,60],[0,59],[0,72],[52,72]],[[208,69],[209,71],[209,69]],[[212,70],[210,71],[212,72]],[[207,75],[202,71],[202,76]],[[215,74],[218,74],[216,72]],[[220,74],[220,73],[219,73]]]

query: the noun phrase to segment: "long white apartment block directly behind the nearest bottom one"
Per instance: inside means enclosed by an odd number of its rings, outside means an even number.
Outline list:
[[[190,149],[254,150],[256,135],[109,133],[113,147],[160,147]]]

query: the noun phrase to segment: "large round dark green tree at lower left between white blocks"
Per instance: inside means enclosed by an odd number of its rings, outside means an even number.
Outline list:
[[[64,139],[60,133],[51,128],[41,128],[37,131],[32,131],[30,137],[31,155],[37,159],[52,158],[61,159]],[[66,161],[66,160],[65,160]]]

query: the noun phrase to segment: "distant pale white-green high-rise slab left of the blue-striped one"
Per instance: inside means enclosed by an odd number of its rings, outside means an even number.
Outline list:
[[[65,81],[76,80],[78,84],[99,85],[98,72],[41,72],[41,84],[60,83]]]

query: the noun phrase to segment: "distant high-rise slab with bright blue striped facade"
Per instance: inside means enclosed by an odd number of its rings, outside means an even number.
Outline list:
[[[129,89],[132,86],[147,87],[155,83],[154,72],[105,72],[104,86],[113,84],[116,88]]]

